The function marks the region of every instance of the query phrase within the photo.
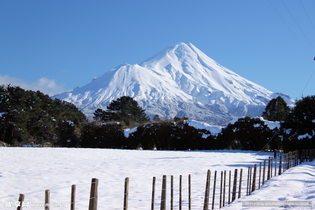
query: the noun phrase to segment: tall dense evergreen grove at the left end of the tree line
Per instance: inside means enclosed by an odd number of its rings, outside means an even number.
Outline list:
[[[0,86],[0,141],[8,144],[54,144],[60,139],[69,140],[65,135],[79,136],[80,124],[85,120],[85,115],[69,102],[52,100],[40,91]],[[75,127],[70,125],[72,128],[68,133],[63,133],[63,127],[69,127],[69,123],[65,126],[62,121],[74,122]]]

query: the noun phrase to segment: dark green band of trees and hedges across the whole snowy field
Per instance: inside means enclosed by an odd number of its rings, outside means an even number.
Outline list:
[[[97,109],[94,120],[72,103],[51,99],[40,91],[0,86],[0,145],[46,145],[81,148],[144,150],[301,150],[315,147],[315,96],[296,100],[291,110],[278,97],[262,116],[281,122],[270,129],[260,118],[239,118],[213,134],[189,126],[187,118],[150,121],[131,97]],[[134,131],[125,136],[126,128]]]

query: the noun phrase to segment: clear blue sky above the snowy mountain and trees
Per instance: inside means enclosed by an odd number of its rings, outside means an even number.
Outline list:
[[[0,0],[0,84],[57,94],[190,42],[296,99],[315,70],[315,1],[269,1]]]

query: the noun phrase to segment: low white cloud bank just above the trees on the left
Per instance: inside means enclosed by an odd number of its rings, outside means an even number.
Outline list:
[[[48,79],[46,77],[42,77],[37,81],[27,81],[25,79],[10,77],[7,75],[0,75],[0,85],[8,85],[11,84],[13,86],[20,86],[26,90],[33,91],[41,91],[44,94],[48,94],[52,96],[54,94],[58,94],[65,91],[64,84],[58,84],[55,79]]]

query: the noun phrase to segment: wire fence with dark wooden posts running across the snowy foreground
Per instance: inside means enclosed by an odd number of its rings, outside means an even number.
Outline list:
[[[89,210],[96,210],[97,205],[101,209],[218,209],[225,207],[232,201],[246,196],[250,196],[252,192],[260,189],[268,179],[274,176],[279,176],[285,173],[292,167],[298,166],[303,162],[312,162],[315,158],[314,149],[301,150],[288,153],[281,153],[269,157],[268,160],[258,162],[248,168],[235,169],[234,171],[214,171],[208,170],[207,173],[187,176],[166,176],[161,179],[139,179],[132,180],[126,178],[124,181],[115,181],[119,185],[116,189],[124,188],[124,192],[117,192],[114,189],[106,189],[106,183],[111,181],[99,182],[98,179],[92,179],[90,183],[83,183],[77,185],[69,185],[60,188],[53,188],[45,191],[28,192],[19,195],[9,195],[0,197],[0,200],[16,199],[17,201],[6,201],[5,207],[16,208],[21,210],[23,207],[30,207],[29,202],[33,195],[43,195],[45,192],[44,203],[42,207],[45,210],[49,209],[75,209],[75,205],[85,202],[85,206],[89,206]],[[202,176],[202,177],[201,177]],[[138,191],[139,186],[152,182],[152,189],[145,191]],[[111,182],[112,183],[112,182]],[[87,186],[80,189],[81,195],[76,199],[77,187],[90,184],[90,192],[86,190]],[[98,186],[102,186],[103,190],[98,190]],[[104,186],[103,186],[104,185]],[[156,186],[158,186],[156,188]],[[140,189],[143,189],[140,188]],[[68,200],[70,202],[56,203],[51,202],[59,190],[67,190],[71,192]],[[108,191],[111,194],[108,194]],[[50,194],[51,193],[51,194]],[[69,193],[70,194],[70,193]],[[26,203],[24,201],[27,197]],[[132,197],[132,199],[129,199]],[[70,199],[71,198],[71,199]],[[104,208],[105,204],[112,200],[121,200],[121,204],[116,204],[112,207]],[[128,200],[132,201],[128,203]],[[62,205],[60,205],[62,204]]]

